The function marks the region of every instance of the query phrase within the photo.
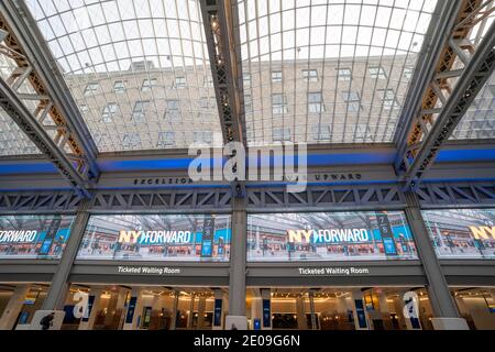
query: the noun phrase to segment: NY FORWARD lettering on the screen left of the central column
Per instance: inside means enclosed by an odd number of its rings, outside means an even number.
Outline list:
[[[128,231],[120,230],[120,243],[189,243],[191,240],[190,231]]]

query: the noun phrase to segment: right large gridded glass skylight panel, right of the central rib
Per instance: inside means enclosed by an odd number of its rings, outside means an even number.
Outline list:
[[[393,141],[436,3],[240,0],[249,142]]]

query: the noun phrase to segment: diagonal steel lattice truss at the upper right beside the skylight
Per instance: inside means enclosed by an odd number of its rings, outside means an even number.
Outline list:
[[[472,29],[494,10],[492,1],[465,0],[461,6],[407,143],[398,151],[395,167],[407,187],[417,187],[494,69],[495,24],[480,43],[468,40]]]

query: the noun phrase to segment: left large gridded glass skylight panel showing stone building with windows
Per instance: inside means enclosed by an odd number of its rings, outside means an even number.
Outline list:
[[[26,0],[100,152],[211,143],[198,0]]]

